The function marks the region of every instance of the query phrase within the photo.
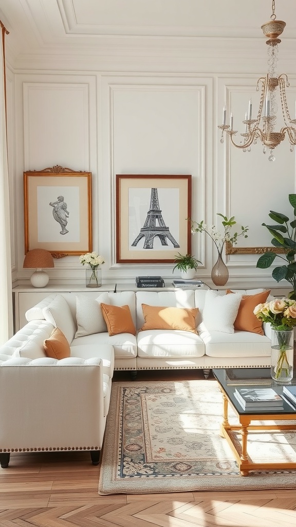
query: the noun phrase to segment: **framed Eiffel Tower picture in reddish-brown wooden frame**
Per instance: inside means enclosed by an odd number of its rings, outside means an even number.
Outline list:
[[[173,263],[191,252],[191,175],[116,175],[116,262]]]

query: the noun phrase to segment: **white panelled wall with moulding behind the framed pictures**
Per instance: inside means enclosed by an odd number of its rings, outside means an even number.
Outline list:
[[[215,50],[211,61],[214,61]],[[235,53],[235,51],[233,52]],[[107,59],[106,59],[107,64]],[[227,65],[226,65],[227,66]],[[8,112],[11,188],[13,191],[13,279],[25,283],[23,270],[23,171],[56,164],[92,172],[93,249],[106,258],[103,281],[134,281],[137,274],[172,277],[173,265],[116,264],[115,175],[192,174],[192,217],[220,225],[217,212],[234,215],[249,225],[249,238],[239,246],[270,246],[261,224],[270,209],[291,215],[288,194],[295,192],[295,154],[289,144],[275,149],[275,162],[260,144],[250,153],[220,143],[222,109],[234,113],[235,129],[244,119],[250,95],[256,112],[257,74],[235,75],[216,61],[212,73],[9,71]],[[107,68],[106,68],[107,69]],[[40,68],[39,68],[40,70]],[[141,73],[140,73],[141,71]],[[294,108],[296,75],[290,64],[289,103]],[[287,71],[289,73],[289,71]],[[265,69],[262,70],[262,75]],[[14,243],[16,240],[16,244]],[[213,243],[192,237],[192,252],[203,262],[199,275],[207,278],[216,261]],[[231,279],[270,279],[271,270],[256,269],[258,255],[226,257]],[[56,260],[49,272],[61,284],[84,280],[77,256]],[[271,284],[273,280],[271,279]]]

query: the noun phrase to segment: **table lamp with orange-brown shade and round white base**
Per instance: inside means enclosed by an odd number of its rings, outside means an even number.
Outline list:
[[[46,249],[32,249],[28,251],[24,259],[24,268],[36,269],[31,276],[31,284],[34,287],[45,287],[50,277],[42,269],[54,267],[53,257]]]

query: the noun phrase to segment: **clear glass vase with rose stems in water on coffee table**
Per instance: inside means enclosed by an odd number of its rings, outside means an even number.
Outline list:
[[[293,378],[294,330],[271,329],[271,377],[289,384]]]

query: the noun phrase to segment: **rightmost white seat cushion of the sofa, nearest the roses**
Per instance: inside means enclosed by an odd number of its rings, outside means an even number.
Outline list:
[[[249,331],[200,331],[209,357],[270,357],[271,343],[268,337]]]

